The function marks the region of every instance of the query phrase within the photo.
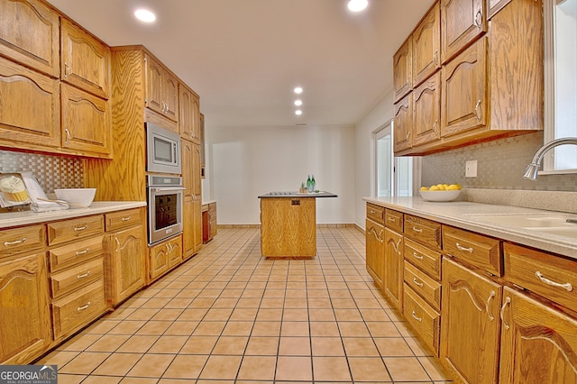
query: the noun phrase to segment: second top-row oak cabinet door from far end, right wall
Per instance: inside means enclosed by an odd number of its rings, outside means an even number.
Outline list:
[[[413,87],[441,68],[441,11],[435,3],[413,31]]]

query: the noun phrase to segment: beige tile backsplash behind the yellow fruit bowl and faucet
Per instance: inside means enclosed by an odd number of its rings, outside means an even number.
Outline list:
[[[522,178],[535,152],[543,145],[543,133],[529,133],[493,142],[482,142],[425,156],[422,185],[460,183],[465,188],[577,191],[577,174],[539,175]],[[465,178],[465,161],[477,160],[477,178]]]

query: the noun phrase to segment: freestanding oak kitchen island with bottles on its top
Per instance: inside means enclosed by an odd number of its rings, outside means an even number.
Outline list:
[[[267,258],[316,256],[316,198],[330,192],[270,192],[261,199],[261,254]]]

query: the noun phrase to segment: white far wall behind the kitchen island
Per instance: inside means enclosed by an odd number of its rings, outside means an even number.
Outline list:
[[[207,119],[208,120],[208,119]],[[336,198],[316,200],[316,222],[355,220],[353,126],[215,127],[206,124],[204,200],[218,224],[260,224],[259,195],[296,191],[307,175]]]

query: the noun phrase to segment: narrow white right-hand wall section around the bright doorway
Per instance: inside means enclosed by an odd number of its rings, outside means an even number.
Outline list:
[[[357,124],[355,131],[355,189],[354,189],[354,223],[365,227],[365,205],[362,197],[374,195],[371,187],[371,173],[374,172],[374,148],[371,147],[371,135],[380,126],[393,118],[393,93],[385,95],[380,103]]]

